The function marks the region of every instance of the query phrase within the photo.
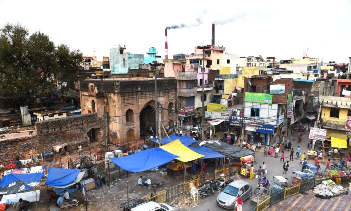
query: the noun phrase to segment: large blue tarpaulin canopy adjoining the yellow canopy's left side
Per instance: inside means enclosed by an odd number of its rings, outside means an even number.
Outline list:
[[[157,147],[125,157],[111,158],[110,160],[124,170],[142,172],[164,165],[175,158],[178,158],[178,156]]]

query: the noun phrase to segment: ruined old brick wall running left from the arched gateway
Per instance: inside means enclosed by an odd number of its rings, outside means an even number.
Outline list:
[[[38,135],[0,141],[0,164],[6,165],[16,157],[28,159],[33,153],[51,151],[53,146],[67,143],[74,146],[89,142],[87,133],[96,129],[97,141],[104,139],[104,121],[96,113],[70,116],[35,123]],[[101,137],[102,136],[102,137]],[[70,149],[70,148],[68,148]]]

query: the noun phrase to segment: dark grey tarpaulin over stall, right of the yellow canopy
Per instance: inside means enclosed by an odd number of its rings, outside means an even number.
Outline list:
[[[252,155],[254,151],[249,149],[227,144],[226,142],[219,141],[218,139],[211,139],[202,141],[201,143],[194,143],[191,147],[205,146],[211,148],[213,151],[218,152],[226,157],[232,157],[234,159],[239,160],[241,157]]]

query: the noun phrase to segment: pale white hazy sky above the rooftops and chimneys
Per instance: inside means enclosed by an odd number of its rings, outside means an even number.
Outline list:
[[[164,56],[164,29],[169,57],[189,54],[194,46],[216,45],[238,57],[274,56],[277,60],[308,56],[324,62],[348,62],[351,56],[351,1],[4,1],[0,26],[21,23],[30,33],[41,31],[55,44],[64,43],[98,60],[112,45],[131,53],[154,46]],[[199,24],[199,20],[201,24]]]

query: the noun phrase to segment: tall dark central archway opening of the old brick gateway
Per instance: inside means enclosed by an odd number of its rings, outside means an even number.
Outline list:
[[[153,131],[155,131],[155,112],[154,107],[151,105],[146,105],[140,112],[140,137],[149,136],[149,128],[152,127]]]

